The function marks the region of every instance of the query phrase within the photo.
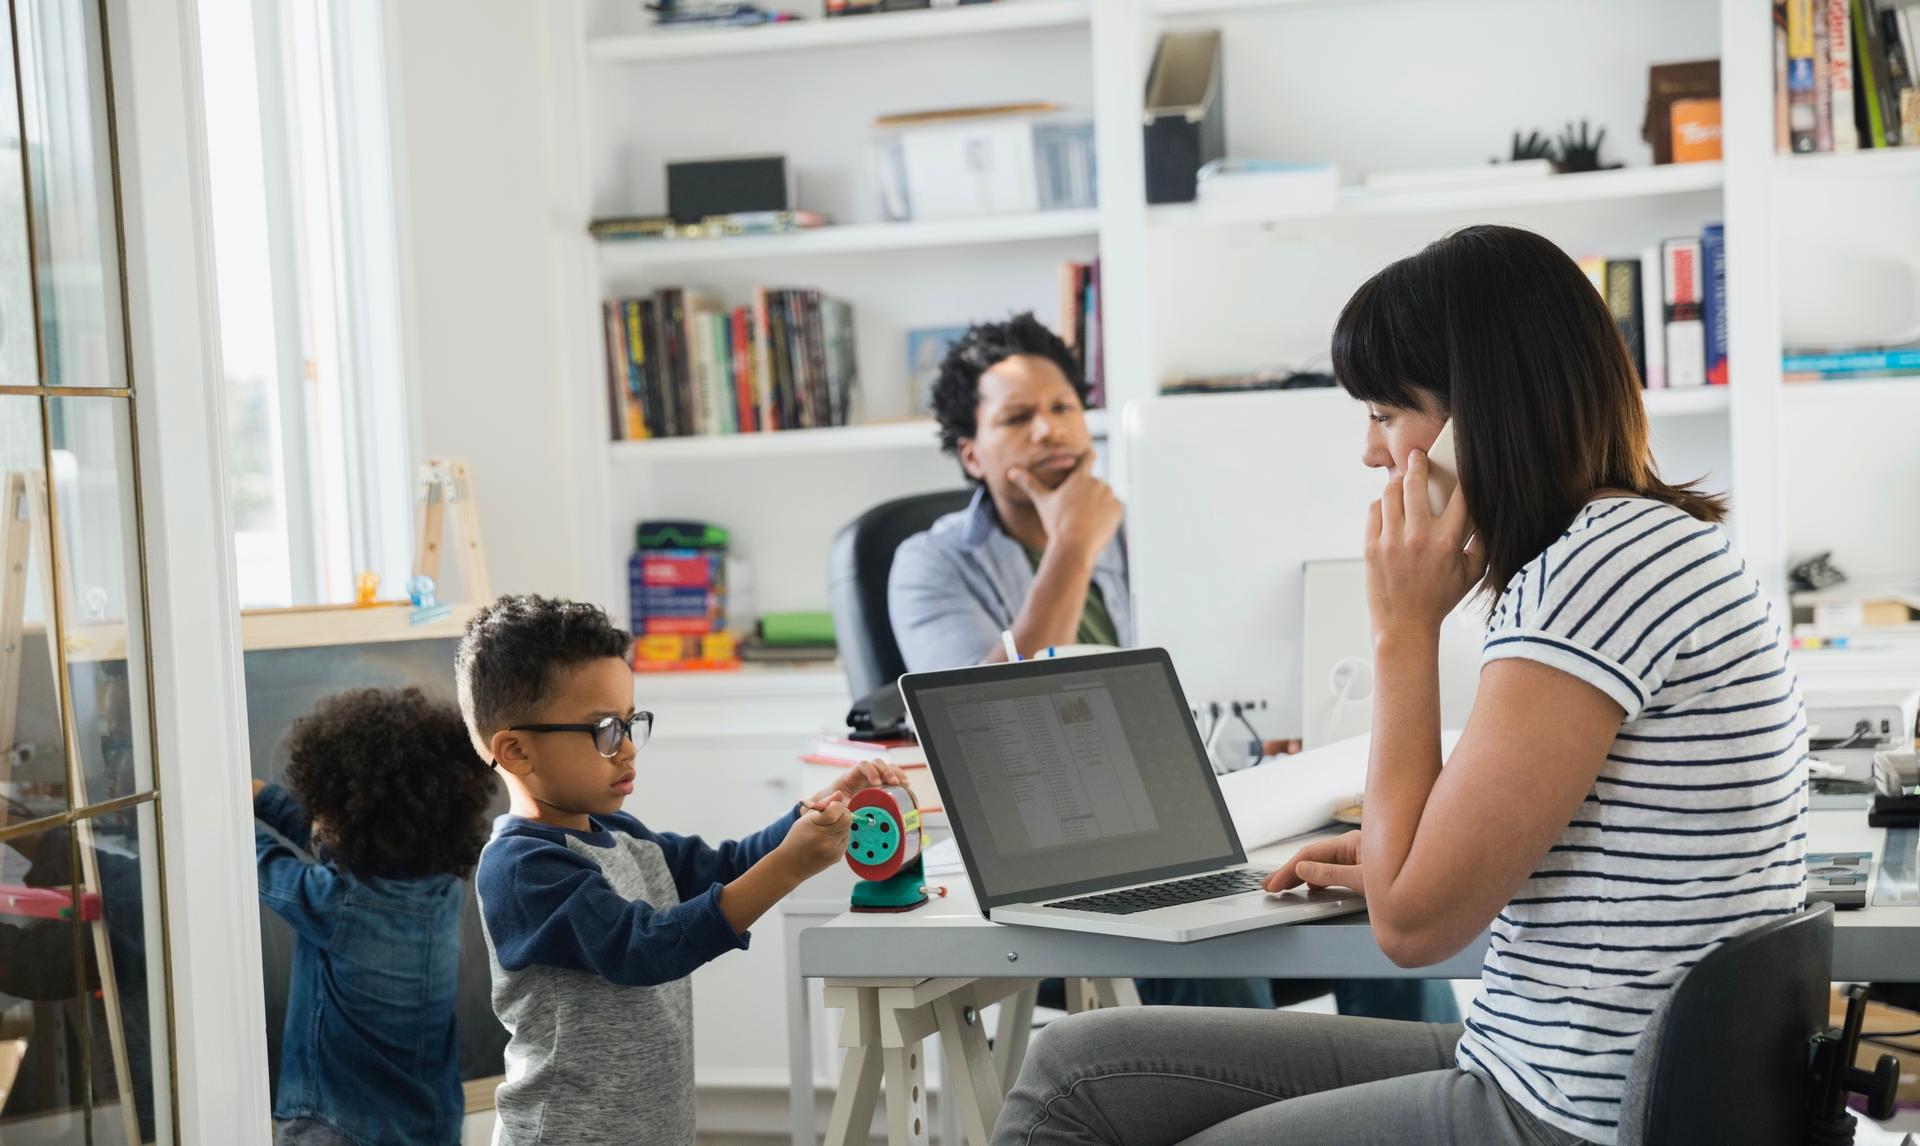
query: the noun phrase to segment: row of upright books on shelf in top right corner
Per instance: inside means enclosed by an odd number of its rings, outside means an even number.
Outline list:
[[[1920,0],[1774,0],[1774,148],[1920,146]]]

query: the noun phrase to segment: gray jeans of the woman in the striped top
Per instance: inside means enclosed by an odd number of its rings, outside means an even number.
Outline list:
[[[1459,1023],[1119,1008],[1039,1033],[995,1146],[1574,1146],[1453,1067]]]

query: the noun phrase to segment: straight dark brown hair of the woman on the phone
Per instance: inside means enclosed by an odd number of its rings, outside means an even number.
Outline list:
[[[1640,376],[1607,303],[1530,230],[1467,227],[1369,278],[1340,311],[1332,369],[1361,401],[1453,420],[1486,593],[1601,489],[1726,516],[1724,497],[1659,478]]]

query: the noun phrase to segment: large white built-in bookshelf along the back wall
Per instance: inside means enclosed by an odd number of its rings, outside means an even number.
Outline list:
[[[1734,386],[1651,392],[1647,413],[1674,426],[1663,430],[1663,440],[1692,451],[1682,468],[1703,468],[1732,493],[1738,543],[1782,595],[1788,551],[1799,545],[1782,478],[1782,443],[1791,436],[1788,407],[1845,399],[1826,397],[1837,390],[1832,386],[1780,382],[1778,234],[1805,221],[1784,223],[1776,192],[1862,179],[1903,180],[1885,184],[1893,188],[1910,180],[1920,190],[1920,150],[1774,155],[1772,33],[1766,12],[1747,0],[1565,0],[1521,8],[1500,0],[1000,0],[722,31],[641,29],[618,0],[557,8],[566,15],[555,17],[555,69],[580,75],[570,100],[559,100],[555,109],[563,142],[574,148],[557,223],[557,232],[566,234],[557,259],[563,298],[574,299],[566,313],[591,315],[601,298],[662,284],[707,284],[735,303],[755,282],[864,292],[852,299],[862,386],[881,394],[872,411],[877,424],[609,445],[601,347],[593,324],[576,319],[568,372],[580,397],[580,488],[607,514],[614,537],[586,561],[609,570],[603,584],[611,599],[620,597],[624,520],[637,505],[674,505],[687,488],[682,474],[712,474],[718,465],[753,474],[739,478],[741,489],[774,482],[810,497],[789,514],[822,537],[814,549],[791,553],[801,568],[822,559],[824,537],[856,501],[956,480],[939,468],[931,426],[899,420],[904,403],[889,397],[902,384],[895,378],[893,342],[904,326],[931,324],[927,313],[943,292],[966,299],[966,317],[1023,305],[1050,317],[1050,269],[1098,253],[1106,392],[1108,405],[1119,409],[1156,394],[1169,376],[1273,363],[1323,367],[1323,357],[1311,359],[1325,353],[1338,305],[1367,273],[1471,221],[1534,227],[1571,253],[1640,251],[1667,236],[1693,234],[1707,221],[1726,223],[1728,263],[1736,269]],[[1377,35],[1382,15],[1396,27],[1386,40]],[[1369,190],[1356,182],[1332,211],[1311,217],[1148,205],[1137,175],[1140,92],[1154,40],[1169,27],[1223,31],[1229,154],[1332,161],[1357,180],[1365,171],[1482,163],[1505,152],[1513,129],[1553,134],[1592,115],[1609,131],[1607,159],[1624,159],[1626,167],[1469,186]],[[1538,50],[1542,42],[1574,40],[1592,52]],[[862,46],[874,50],[845,52]],[[1724,60],[1724,161],[1649,165],[1638,138],[1645,65],[1711,56]],[[705,63],[697,71],[660,67],[678,60]],[[1402,83],[1356,84],[1356,67]],[[991,92],[983,92],[983,77],[993,77]],[[900,94],[902,84],[908,94]],[[1407,90],[1423,92],[1417,107],[1407,104]],[[864,131],[874,115],[908,104],[1029,96],[1091,109],[1100,146],[1098,209],[877,221],[860,190]],[[676,107],[666,121],[636,109],[660,100]],[[593,215],[657,209],[622,198],[626,188],[636,180],[645,186],[660,163],[697,148],[714,155],[789,154],[803,188],[824,180],[837,196],[829,207],[837,225],[728,240],[578,238]],[[564,157],[566,148],[561,152]],[[820,207],[804,190],[801,205]],[[1818,227],[1845,230],[1857,223],[1841,217]],[[1260,303],[1242,303],[1246,298]],[[854,472],[870,480],[854,482]],[[1116,480],[1125,486],[1123,472]],[[833,488],[814,497],[820,491],[810,482]],[[793,530],[797,536],[799,524]]]

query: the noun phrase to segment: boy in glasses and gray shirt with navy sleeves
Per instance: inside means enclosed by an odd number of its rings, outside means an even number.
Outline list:
[[[501,597],[455,655],[467,729],[507,781],[474,877],[507,1027],[495,1146],[693,1142],[701,964],[847,850],[851,793],[904,785],[852,768],[747,839],[655,831],[622,804],[653,729],[634,710],[632,637],[593,605]]]

